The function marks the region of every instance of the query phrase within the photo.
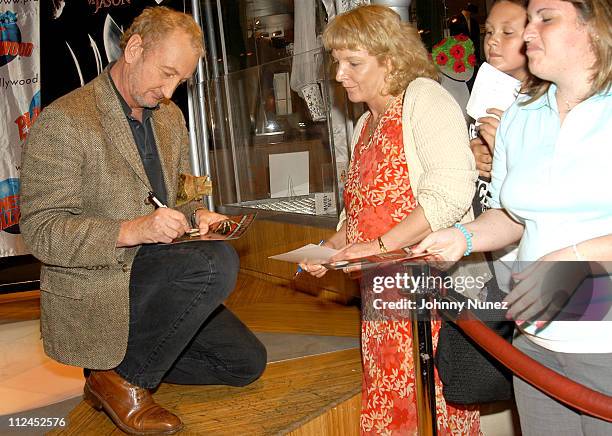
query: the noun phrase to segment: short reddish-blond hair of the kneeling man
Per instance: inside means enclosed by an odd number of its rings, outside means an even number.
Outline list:
[[[121,50],[134,35],[140,35],[145,49],[151,48],[156,42],[170,33],[180,30],[191,39],[191,46],[204,54],[202,29],[191,15],[175,11],[165,6],[146,8],[137,16],[130,27],[121,36]]]

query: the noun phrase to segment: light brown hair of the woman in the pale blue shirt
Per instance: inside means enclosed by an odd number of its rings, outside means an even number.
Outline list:
[[[564,0],[576,8],[576,13],[588,27],[591,45],[595,53],[592,66],[591,89],[585,98],[600,92],[607,92],[612,86],[612,3],[610,0]],[[529,104],[544,95],[550,86],[548,81],[528,84],[526,93],[531,99]]]

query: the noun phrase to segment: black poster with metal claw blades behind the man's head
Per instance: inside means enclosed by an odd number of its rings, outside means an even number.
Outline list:
[[[91,81],[119,57],[121,34],[150,6],[189,13],[184,0],[41,0],[42,106]],[[184,87],[177,99],[186,99]]]

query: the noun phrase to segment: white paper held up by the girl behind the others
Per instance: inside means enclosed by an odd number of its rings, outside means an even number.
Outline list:
[[[487,114],[487,109],[497,108],[505,111],[510,107],[520,89],[521,82],[502,73],[495,67],[483,63],[478,70],[470,100],[466,106],[469,116],[477,120]]]

